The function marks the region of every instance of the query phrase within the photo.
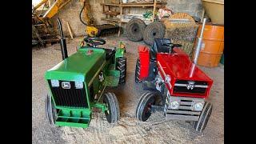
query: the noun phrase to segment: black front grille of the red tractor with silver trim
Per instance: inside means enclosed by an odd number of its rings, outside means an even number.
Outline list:
[[[174,93],[187,93],[187,94],[205,94],[207,89],[207,82],[194,81],[194,88],[190,89],[187,86],[189,81],[177,80],[174,84]]]

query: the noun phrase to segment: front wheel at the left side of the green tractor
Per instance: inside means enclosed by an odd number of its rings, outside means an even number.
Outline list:
[[[54,125],[56,118],[57,118],[57,110],[54,107],[54,102],[52,101],[50,95],[46,95],[46,118],[50,125]]]

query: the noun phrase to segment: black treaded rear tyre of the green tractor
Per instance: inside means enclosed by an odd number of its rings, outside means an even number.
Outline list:
[[[126,82],[126,57],[117,58],[117,70],[120,71],[119,84]]]

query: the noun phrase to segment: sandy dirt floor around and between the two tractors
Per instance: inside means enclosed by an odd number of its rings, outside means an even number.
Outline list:
[[[67,41],[68,54],[74,54],[82,38]],[[135,106],[140,95],[145,92],[134,82],[137,47],[142,42],[130,42],[126,37],[104,38],[110,48],[122,41],[126,44],[127,76],[126,84],[117,89],[107,89],[118,97],[121,118],[111,125],[105,114],[94,113],[87,129],[52,127],[46,121],[45,104],[47,89],[44,80],[46,70],[62,61],[59,44],[32,50],[32,141],[33,143],[224,143],[224,66],[201,67],[214,86],[210,92],[210,102],[214,109],[203,134],[198,134],[187,122],[168,121],[161,113],[152,114],[147,122],[134,118]],[[103,47],[103,46],[102,46]]]

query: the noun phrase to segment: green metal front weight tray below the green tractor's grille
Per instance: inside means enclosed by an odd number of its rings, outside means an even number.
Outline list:
[[[57,126],[71,126],[86,128],[91,119],[90,110],[61,109],[55,122]]]

